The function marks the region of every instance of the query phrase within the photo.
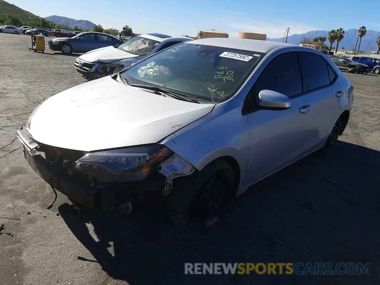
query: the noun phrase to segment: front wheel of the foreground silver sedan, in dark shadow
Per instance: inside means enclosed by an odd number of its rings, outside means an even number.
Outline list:
[[[173,180],[169,213],[177,227],[213,225],[233,199],[234,171],[224,160],[215,160],[201,171]]]

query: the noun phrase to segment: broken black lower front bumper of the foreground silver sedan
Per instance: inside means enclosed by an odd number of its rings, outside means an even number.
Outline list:
[[[166,177],[157,173],[144,181],[111,184],[101,188],[78,182],[64,171],[57,171],[38,151],[41,146],[30,135],[28,128],[17,131],[24,157],[33,170],[70,200],[89,209],[112,211],[126,202],[141,200],[146,192],[159,191],[165,185]]]

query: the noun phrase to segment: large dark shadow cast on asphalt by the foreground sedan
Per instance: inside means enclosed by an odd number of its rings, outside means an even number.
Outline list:
[[[379,169],[380,152],[339,141],[328,156],[310,155],[261,180],[206,229],[174,228],[157,199],[126,216],[78,213],[69,204],[59,206],[59,212],[92,254],[78,256],[74,263],[98,262],[110,277],[131,285],[377,284]],[[185,263],[240,262],[369,262],[371,271],[337,276],[184,274]]]

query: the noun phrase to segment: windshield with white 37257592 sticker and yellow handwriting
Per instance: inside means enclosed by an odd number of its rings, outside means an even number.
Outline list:
[[[233,97],[263,53],[181,43],[125,70],[128,84],[156,86],[197,100],[223,102]]]

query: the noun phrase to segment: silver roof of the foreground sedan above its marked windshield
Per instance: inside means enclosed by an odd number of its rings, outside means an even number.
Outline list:
[[[268,52],[275,47],[294,47],[294,44],[277,43],[275,41],[250,40],[241,38],[203,38],[188,43],[205,44],[208,46],[244,49],[246,51]],[[298,47],[298,46],[297,46]]]

